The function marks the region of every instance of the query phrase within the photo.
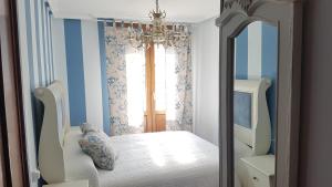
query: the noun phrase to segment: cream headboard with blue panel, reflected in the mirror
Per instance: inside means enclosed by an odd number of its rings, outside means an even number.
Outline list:
[[[267,154],[271,145],[271,122],[266,98],[270,85],[268,79],[235,80],[234,134],[239,142],[252,148],[253,155]]]

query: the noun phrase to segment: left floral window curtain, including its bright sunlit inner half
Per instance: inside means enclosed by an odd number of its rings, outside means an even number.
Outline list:
[[[111,135],[143,133],[144,51],[131,48],[125,29],[107,25],[105,46]]]

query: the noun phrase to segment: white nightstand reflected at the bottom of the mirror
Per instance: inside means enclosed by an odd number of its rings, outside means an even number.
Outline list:
[[[274,155],[241,158],[246,168],[245,187],[274,187]]]

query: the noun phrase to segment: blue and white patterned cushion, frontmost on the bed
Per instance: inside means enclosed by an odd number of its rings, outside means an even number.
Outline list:
[[[79,144],[98,168],[113,170],[115,152],[105,138],[101,133],[87,133]]]

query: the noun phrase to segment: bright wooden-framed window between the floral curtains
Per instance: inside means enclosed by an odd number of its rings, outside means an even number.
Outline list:
[[[126,54],[127,116],[129,126],[145,132],[166,129],[175,120],[176,53],[163,45]]]

